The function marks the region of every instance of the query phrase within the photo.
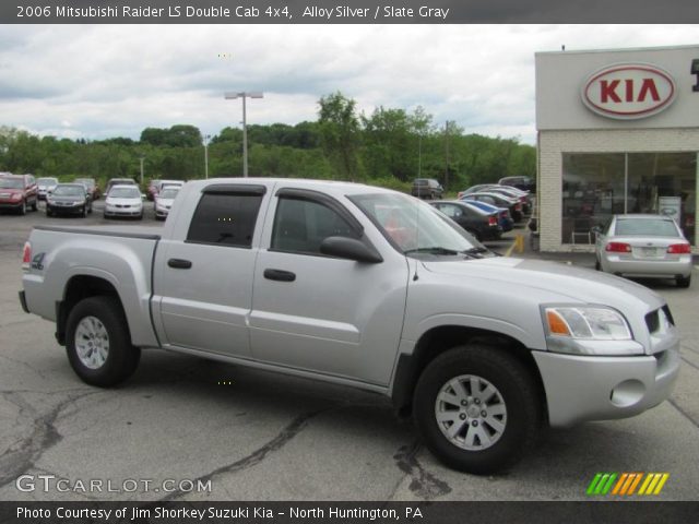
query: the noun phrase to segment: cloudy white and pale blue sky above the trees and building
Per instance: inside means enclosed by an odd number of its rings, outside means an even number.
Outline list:
[[[137,139],[240,126],[226,91],[263,91],[248,123],[316,120],[341,91],[370,114],[423,106],[437,123],[534,143],[534,53],[699,44],[696,25],[0,25],[0,126]]]

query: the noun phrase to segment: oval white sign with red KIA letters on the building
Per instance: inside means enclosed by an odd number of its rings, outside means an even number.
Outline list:
[[[594,72],[582,88],[582,102],[597,115],[619,120],[645,118],[675,99],[675,81],[648,63],[617,63]]]

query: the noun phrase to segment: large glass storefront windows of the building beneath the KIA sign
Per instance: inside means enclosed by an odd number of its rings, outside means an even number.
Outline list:
[[[591,228],[619,213],[676,216],[695,243],[697,153],[564,153],[562,243],[593,243]]]

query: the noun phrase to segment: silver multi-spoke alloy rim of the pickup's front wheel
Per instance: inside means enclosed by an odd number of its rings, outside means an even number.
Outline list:
[[[462,450],[483,451],[505,433],[507,406],[502,394],[488,380],[461,374],[440,388],[435,418],[450,443]]]

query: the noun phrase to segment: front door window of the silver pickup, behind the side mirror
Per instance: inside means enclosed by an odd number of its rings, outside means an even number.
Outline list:
[[[319,202],[280,199],[271,249],[321,254],[320,245],[328,237],[359,238],[359,235],[340,214]]]

